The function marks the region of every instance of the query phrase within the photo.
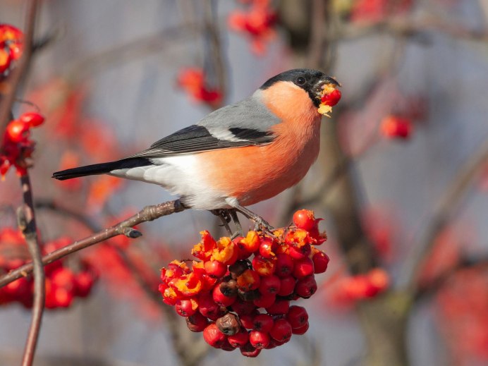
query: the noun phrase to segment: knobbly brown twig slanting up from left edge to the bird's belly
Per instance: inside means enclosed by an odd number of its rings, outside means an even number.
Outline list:
[[[66,247],[55,250],[48,255],[44,255],[44,257],[42,257],[42,264],[49,264],[62,257],[66,257],[66,255],[100,243],[106,239],[113,238],[114,236],[125,235],[127,228],[132,228],[145,221],[158,219],[161,216],[182,212],[186,208],[187,207],[183,206],[179,200],[163,202],[159,205],[146,206],[137,214],[130,216],[128,219],[123,220],[110,228],[104,228],[102,231],[93,233],[86,238],[75,241],[70,245],[66,245]],[[4,274],[4,276],[0,277],[0,287],[3,287],[16,279],[20,279],[21,277],[28,276],[31,272],[32,263],[24,264],[22,267],[13,269],[11,272],[8,272],[8,274]]]

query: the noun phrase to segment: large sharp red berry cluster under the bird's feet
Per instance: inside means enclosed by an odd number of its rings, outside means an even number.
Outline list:
[[[249,231],[233,240],[214,240],[202,231],[192,250],[200,261],[188,267],[175,260],[161,270],[164,303],[186,317],[191,331],[203,331],[210,346],[240,348],[248,357],[304,334],[307,311],[290,302],[310,298],[317,291],[314,275],[327,269],[329,257],[315,248],[326,240],[320,220],[300,210],[295,226],[272,234]]]

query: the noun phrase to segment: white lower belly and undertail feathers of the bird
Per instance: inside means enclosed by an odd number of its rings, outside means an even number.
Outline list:
[[[173,195],[181,197],[183,205],[193,209],[230,208],[226,195],[213,189],[199,176],[201,167],[193,154],[151,159],[153,165],[130,169],[116,169],[112,176],[161,185]]]

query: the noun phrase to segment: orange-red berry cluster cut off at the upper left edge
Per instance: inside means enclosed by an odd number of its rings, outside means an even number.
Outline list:
[[[22,56],[23,33],[8,24],[0,24],[0,80]]]

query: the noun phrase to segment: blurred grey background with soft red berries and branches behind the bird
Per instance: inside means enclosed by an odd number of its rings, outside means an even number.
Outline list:
[[[1,1],[0,23],[25,29],[27,2]],[[324,218],[331,262],[298,302],[307,334],[244,358],[188,331],[159,269],[224,231],[187,210],[65,260],[93,286],[53,300],[35,365],[488,365],[487,16],[486,0],[39,1],[14,115],[46,117],[30,174],[52,248],[174,199],[53,171],[143,150],[290,68],[334,76],[342,99],[305,179],[251,207],[274,226],[301,208]],[[13,170],[0,193],[1,254]],[[19,364],[29,321],[29,300],[1,306],[0,365]]]

